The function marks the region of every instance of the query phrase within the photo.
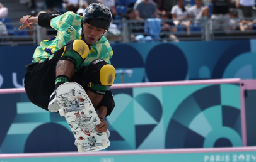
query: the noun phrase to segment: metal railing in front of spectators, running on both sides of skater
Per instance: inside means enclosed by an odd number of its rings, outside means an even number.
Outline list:
[[[226,19],[224,21],[230,21]],[[232,19],[234,22],[239,19]],[[244,24],[245,30],[240,30],[241,23],[236,24],[216,24],[214,19],[187,19],[189,26],[177,23],[172,19],[162,20],[162,23],[171,25],[161,26],[158,38],[145,32],[144,23],[146,21],[132,21],[127,19],[114,20],[110,30],[105,33],[110,43],[132,43],[132,42],[152,42],[152,41],[211,41],[211,40],[234,40],[234,39],[252,39],[256,38],[256,25],[253,19],[248,19],[251,23]],[[193,23],[193,22],[197,23]],[[54,29],[42,28],[33,25],[33,28],[18,30],[20,23],[4,23],[8,28],[8,35],[0,35],[0,45],[39,45],[42,40],[49,40],[57,33]],[[236,28],[235,30],[231,29]],[[158,26],[160,28],[160,26]],[[216,30],[215,28],[220,29]],[[141,36],[141,37],[139,37]],[[139,39],[145,38],[145,39]],[[150,38],[150,39],[148,39]]]

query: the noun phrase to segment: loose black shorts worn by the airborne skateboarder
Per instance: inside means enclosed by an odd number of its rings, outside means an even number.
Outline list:
[[[26,65],[27,71],[24,80],[26,95],[33,104],[47,111],[50,95],[55,90],[55,68],[63,51],[64,48],[56,51],[54,57],[49,57],[42,63]],[[70,80],[82,85],[84,90],[88,89],[87,69],[88,67],[79,69]]]

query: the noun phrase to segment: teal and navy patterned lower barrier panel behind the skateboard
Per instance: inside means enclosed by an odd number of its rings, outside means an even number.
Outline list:
[[[108,150],[242,146],[238,83],[112,91]],[[77,150],[64,117],[33,105],[25,93],[0,98],[1,153]]]

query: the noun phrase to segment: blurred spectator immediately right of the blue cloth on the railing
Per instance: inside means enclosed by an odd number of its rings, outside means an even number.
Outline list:
[[[172,31],[173,33],[177,32],[177,28],[175,24],[171,21],[171,14],[169,11],[161,11],[161,31],[164,32],[170,32]],[[160,34],[160,38],[164,39],[163,41],[176,41],[178,42],[178,39],[175,35],[170,34],[170,33],[162,33]]]

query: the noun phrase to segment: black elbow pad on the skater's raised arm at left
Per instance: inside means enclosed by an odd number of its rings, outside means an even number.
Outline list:
[[[38,25],[41,27],[52,28],[50,26],[50,20],[60,15],[61,13],[59,13],[58,11],[52,11],[50,13],[40,13],[38,16]]]

